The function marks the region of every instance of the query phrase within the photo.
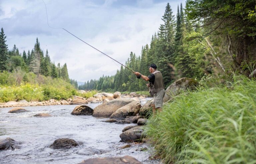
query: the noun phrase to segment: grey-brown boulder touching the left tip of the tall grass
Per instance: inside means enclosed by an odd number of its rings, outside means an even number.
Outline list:
[[[140,142],[143,138],[143,129],[141,126],[136,126],[120,134],[120,138],[124,142]]]

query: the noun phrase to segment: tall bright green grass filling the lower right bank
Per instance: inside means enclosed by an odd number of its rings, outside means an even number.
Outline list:
[[[178,96],[145,134],[165,163],[256,163],[256,81],[235,76]]]

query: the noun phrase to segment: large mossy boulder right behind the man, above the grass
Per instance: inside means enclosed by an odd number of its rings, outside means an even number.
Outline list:
[[[177,96],[182,91],[186,91],[188,89],[195,89],[196,86],[196,80],[183,77],[169,85],[169,87],[165,90],[164,102],[171,100],[173,97]]]

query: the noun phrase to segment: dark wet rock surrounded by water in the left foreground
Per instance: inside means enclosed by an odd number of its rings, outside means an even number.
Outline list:
[[[69,138],[60,138],[55,140],[53,144],[51,144],[49,147],[53,149],[61,149],[61,148],[71,148],[74,146],[78,146],[78,143],[75,140],[69,139]]]

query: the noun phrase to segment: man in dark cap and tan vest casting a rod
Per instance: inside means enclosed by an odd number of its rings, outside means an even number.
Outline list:
[[[145,81],[149,81],[147,86],[150,87],[150,95],[154,95],[155,98],[152,104],[153,114],[156,114],[156,109],[159,112],[162,111],[163,98],[165,95],[163,76],[160,71],[156,70],[156,68],[156,64],[150,64],[149,72],[151,74],[149,76],[144,76],[139,72],[134,72],[136,76],[141,77]]]

